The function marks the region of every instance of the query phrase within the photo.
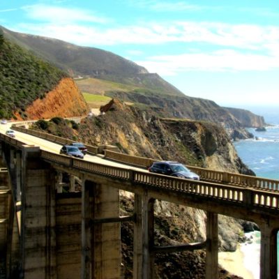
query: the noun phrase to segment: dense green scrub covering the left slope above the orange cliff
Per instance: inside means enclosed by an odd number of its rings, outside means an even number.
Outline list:
[[[66,74],[0,36],[0,117],[10,119],[44,98]]]

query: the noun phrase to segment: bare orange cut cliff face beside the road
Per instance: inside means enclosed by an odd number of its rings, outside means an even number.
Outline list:
[[[38,98],[25,110],[27,119],[50,119],[54,116],[83,116],[89,107],[71,78],[63,78],[45,98]],[[22,120],[15,112],[17,120]]]

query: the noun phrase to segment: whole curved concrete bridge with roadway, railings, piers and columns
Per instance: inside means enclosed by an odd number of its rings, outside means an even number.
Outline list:
[[[205,278],[217,279],[218,214],[257,223],[260,278],[277,278],[279,181],[195,167],[201,181],[151,174],[140,168],[149,158],[112,146],[88,146],[92,156],[70,158],[59,155],[69,140],[13,129],[15,139],[0,129],[1,278],[121,278],[120,223],[133,222],[134,278],[153,278],[157,253],[204,249]],[[131,216],[119,216],[120,189],[134,193]],[[206,211],[206,239],[154,246],[156,199]]]

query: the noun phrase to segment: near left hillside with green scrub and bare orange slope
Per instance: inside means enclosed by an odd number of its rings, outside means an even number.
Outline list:
[[[82,94],[66,73],[2,34],[0,38],[0,118],[38,119],[88,112]]]

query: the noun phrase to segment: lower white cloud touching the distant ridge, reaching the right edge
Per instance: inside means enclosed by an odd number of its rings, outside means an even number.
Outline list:
[[[165,55],[136,61],[151,73],[169,76],[187,71],[264,71],[279,68],[279,56],[242,54],[234,50],[205,53]]]

